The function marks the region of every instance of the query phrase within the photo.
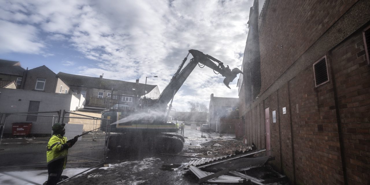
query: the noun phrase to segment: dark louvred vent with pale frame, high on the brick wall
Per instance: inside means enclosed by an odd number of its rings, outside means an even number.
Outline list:
[[[313,71],[315,77],[315,87],[325,84],[329,81],[327,72],[326,56],[320,58],[319,61],[313,64]]]

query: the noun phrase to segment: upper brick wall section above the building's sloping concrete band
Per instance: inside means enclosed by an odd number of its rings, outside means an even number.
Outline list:
[[[259,25],[261,92],[284,73],[356,1],[269,1],[265,17]]]

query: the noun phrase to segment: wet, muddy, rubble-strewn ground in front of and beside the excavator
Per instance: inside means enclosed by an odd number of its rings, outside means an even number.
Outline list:
[[[106,167],[95,168],[63,185],[198,185],[194,174],[180,172],[189,161],[231,155],[249,147],[235,135],[201,133],[190,127],[185,128],[184,137],[184,148],[176,155],[108,151]]]

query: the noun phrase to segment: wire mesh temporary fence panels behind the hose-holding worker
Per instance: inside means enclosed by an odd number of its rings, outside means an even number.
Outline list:
[[[98,128],[102,120],[110,121],[67,111],[9,113],[0,114],[0,117],[3,132],[0,135],[0,172],[36,185],[47,180],[46,149],[54,123],[64,122],[65,136],[72,139]],[[78,138],[68,149],[63,175],[72,178],[104,163],[108,129],[105,127]]]

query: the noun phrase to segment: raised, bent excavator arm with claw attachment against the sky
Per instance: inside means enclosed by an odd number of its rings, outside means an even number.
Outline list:
[[[193,56],[193,58],[183,68],[185,61],[189,56],[189,53]],[[185,80],[189,77],[191,72],[198,64],[206,65],[207,67],[213,69],[214,71],[217,71],[219,74],[225,77],[223,83],[228,88],[230,88],[229,83],[232,82],[234,78],[236,78],[236,75],[242,73],[242,71],[240,71],[238,68],[230,70],[228,65],[227,67],[225,67],[221,61],[210,55],[203,54],[201,51],[189,50],[189,53],[179,65],[179,68],[172,77],[171,82],[162,91],[161,95],[158,98],[157,106],[162,108],[167,107],[167,104],[173,99],[176,92],[180,89],[182,84],[184,84]]]

